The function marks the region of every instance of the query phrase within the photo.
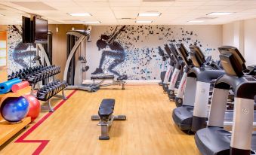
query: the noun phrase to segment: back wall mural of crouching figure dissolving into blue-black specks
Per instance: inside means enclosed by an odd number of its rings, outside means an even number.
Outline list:
[[[89,79],[91,74],[114,74],[116,77],[126,74],[129,80],[159,79],[162,65],[159,46],[164,49],[165,43],[182,42],[187,47],[197,44],[205,56],[217,53],[222,40],[221,35],[216,34],[221,34],[221,29],[212,27],[212,30],[207,30],[208,39],[204,39],[205,32],[199,34],[201,29],[199,26],[93,26],[92,41],[87,46],[90,69],[86,77]],[[217,36],[216,41],[208,41],[214,36]],[[213,54],[213,58],[217,59],[217,56]]]

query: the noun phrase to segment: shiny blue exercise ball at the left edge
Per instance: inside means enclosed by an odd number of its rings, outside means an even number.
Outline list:
[[[29,112],[29,102],[23,97],[10,97],[1,105],[2,117],[11,123],[18,123]]]

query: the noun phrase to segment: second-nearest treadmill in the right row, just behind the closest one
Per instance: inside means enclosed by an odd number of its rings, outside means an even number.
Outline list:
[[[172,112],[174,123],[184,131],[194,131],[193,124],[195,130],[206,126],[211,81],[225,74],[224,71],[205,66],[205,56],[199,47],[193,45],[190,50],[193,67],[187,74],[184,102]]]

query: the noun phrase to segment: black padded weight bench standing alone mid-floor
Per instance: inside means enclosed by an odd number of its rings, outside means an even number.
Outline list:
[[[92,115],[91,120],[100,120],[97,126],[101,126],[100,140],[109,140],[109,130],[113,124],[113,120],[126,120],[125,115],[114,116],[115,99],[103,99],[98,115]]]

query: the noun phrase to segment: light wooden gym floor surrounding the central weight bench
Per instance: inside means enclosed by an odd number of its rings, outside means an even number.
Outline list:
[[[39,123],[24,129],[0,154],[104,154],[165,155],[199,154],[193,135],[181,132],[171,118],[174,102],[158,85],[126,86],[125,90],[99,90],[97,93],[66,90],[73,93],[54,113],[40,114]],[[100,126],[91,121],[102,99],[116,99],[114,114],[125,114],[127,120],[116,121],[109,141],[99,141]],[[32,127],[34,125],[34,127]],[[17,143],[15,141],[23,141]]]

